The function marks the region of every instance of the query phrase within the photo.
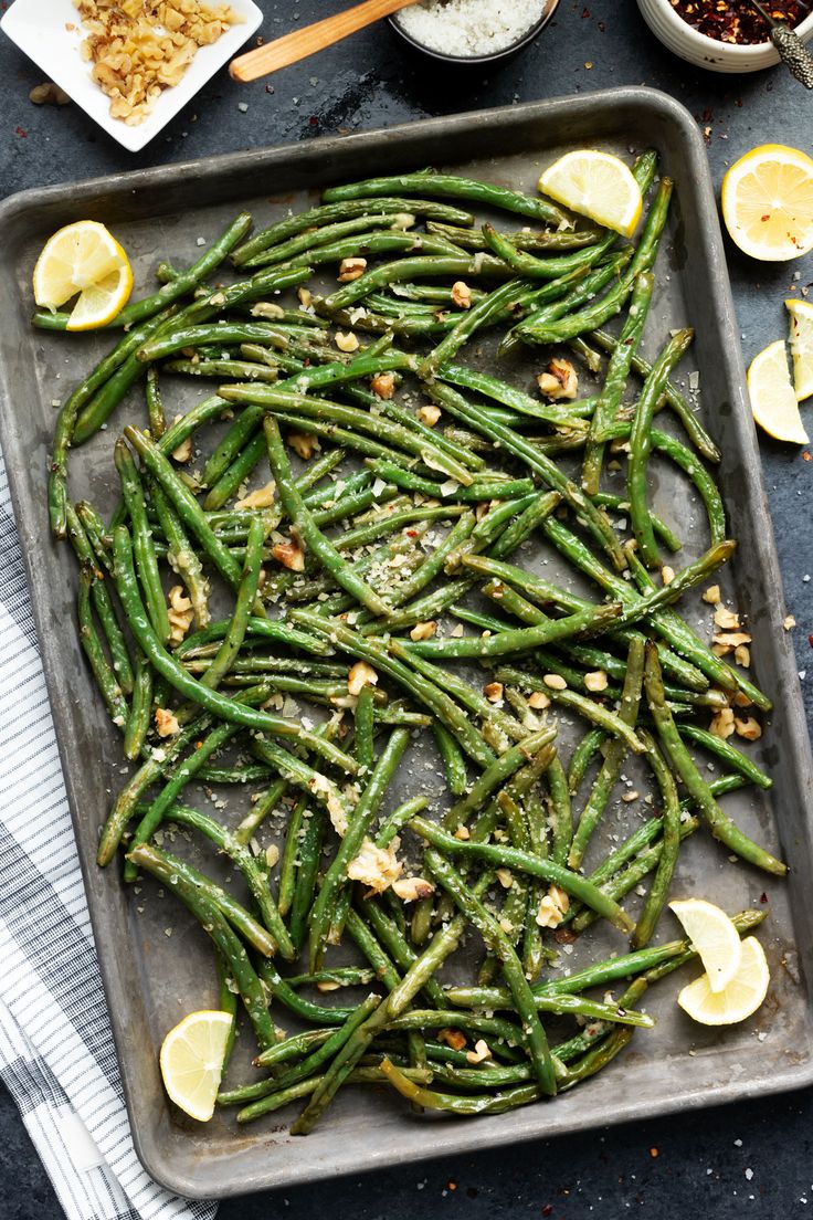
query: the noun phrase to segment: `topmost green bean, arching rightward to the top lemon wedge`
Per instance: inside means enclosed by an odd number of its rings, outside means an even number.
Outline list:
[[[436,173],[434,170],[422,170],[417,173],[396,174],[389,178],[367,178],[364,182],[353,182],[343,187],[329,187],[322,194],[327,204],[345,203],[355,199],[377,199],[379,195],[389,195],[390,189],[395,189],[405,195],[413,192],[427,195],[451,196],[452,199],[470,199],[489,207],[500,207],[507,212],[519,216],[530,216],[533,220],[544,221],[557,228],[569,220],[555,204],[535,195],[523,195],[507,187],[499,187],[491,182],[480,182],[475,178],[461,178],[451,173]]]

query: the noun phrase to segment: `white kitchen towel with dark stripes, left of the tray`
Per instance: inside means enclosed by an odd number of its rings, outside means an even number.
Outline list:
[[[0,1078],[68,1220],[212,1220],[133,1141],[0,458]]]

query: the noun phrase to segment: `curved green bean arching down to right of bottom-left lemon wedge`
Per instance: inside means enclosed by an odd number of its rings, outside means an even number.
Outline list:
[[[210,893],[188,880],[186,872],[178,869],[180,861],[172,861],[163,853],[147,843],[129,853],[128,859],[139,869],[152,872],[171,886],[184,906],[188,906],[207,936],[228,963],[229,971],[238,986],[249,1020],[260,1043],[260,1048],[273,1046],[277,1041],[273,1021],[268,1015],[266,997],[249,960],[246,950],[229,927],[219,908]]]

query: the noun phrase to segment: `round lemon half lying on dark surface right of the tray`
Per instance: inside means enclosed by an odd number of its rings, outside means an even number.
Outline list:
[[[723,220],[745,254],[784,262],[813,250],[813,161],[784,144],[746,152],[723,178]]]

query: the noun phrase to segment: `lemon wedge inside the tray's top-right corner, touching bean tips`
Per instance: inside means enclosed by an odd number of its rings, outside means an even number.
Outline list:
[[[641,218],[641,188],[631,170],[609,152],[566,152],[549,166],[538,187],[558,204],[624,237],[633,235]]]

